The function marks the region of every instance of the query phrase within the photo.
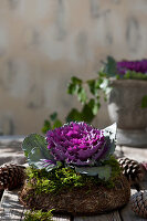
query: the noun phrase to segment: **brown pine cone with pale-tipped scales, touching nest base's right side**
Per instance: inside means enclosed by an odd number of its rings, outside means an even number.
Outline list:
[[[137,191],[139,191],[139,182],[144,179],[145,176],[144,166],[136,160],[128,158],[120,158],[118,159],[118,162],[123,169],[123,175],[125,175],[130,185],[134,186]]]

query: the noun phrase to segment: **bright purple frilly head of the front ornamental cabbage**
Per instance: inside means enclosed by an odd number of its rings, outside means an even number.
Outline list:
[[[49,130],[46,141],[55,161],[76,166],[94,165],[105,158],[111,145],[111,141],[104,137],[103,130],[83,122],[70,123]]]

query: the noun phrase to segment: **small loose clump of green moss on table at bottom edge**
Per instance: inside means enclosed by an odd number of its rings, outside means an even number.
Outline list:
[[[24,221],[52,221],[52,211],[30,210],[24,213]]]

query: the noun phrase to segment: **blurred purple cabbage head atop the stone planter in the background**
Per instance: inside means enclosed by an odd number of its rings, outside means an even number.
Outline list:
[[[147,73],[147,60],[120,61],[116,63],[116,66],[119,74],[125,74],[127,71]]]

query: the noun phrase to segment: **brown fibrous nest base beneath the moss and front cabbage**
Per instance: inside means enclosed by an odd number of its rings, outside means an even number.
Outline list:
[[[104,186],[72,188],[57,194],[35,194],[27,183],[20,192],[21,202],[35,210],[51,210],[55,213],[71,213],[73,215],[92,215],[105,213],[125,206],[129,201],[130,186],[122,175],[109,189]]]

